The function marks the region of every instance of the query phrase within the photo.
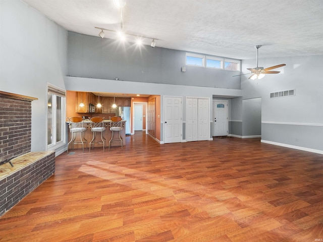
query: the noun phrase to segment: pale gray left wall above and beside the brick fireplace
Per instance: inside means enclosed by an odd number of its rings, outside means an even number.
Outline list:
[[[31,151],[47,150],[47,82],[65,89],[67,31],[19,0],[0,1],[0,90],[32,101]]]

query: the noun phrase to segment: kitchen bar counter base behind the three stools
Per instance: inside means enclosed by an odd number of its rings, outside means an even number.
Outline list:
[[[69,128],[69,122],[66,122],[66,123],[67,123],[67,131],[68,131],[68,141],[67,141],[67,143],[68,143],[71,140],[72,134],[71,134],[70,128]],[[84,120],[84,128],[86,128],[86,131],[84,132],[84,138],[87,140],[87,143],[84,144],[84,149],[85,149],[85,147],[89,148],[89,143],[93,138],[93,133],[91,131],[91,124],[90,123],[91,123],[90,120],[87,120],[87,119]],[[126,145],[125,123],[126,123],[126,120],[123,120],[122,121],[123,129],[120,131],[120,136],[123,140],[123,146]],[[105,138],[105,146],[109,147],[109,141],[111,140],[111,137],[112,137],[112,132],[110,130],[111,120],[109,120],[109,119],[104,120],[104,127],[105,127],[105,131],[103,132],[103,137]],[[76,141],[79,141],[79,140],[80,140],[80,137],[79,137],[79,135],[77,135]],[[97,134],[94,141],[100,141],[100,140],[101,140],[100,134]],[[119,136],[116,134],[114,135],[114,138],[111,141],[111,147],[114,147],[114,146],[121,146],[121,141],[119,139]],[[91,150],[92,150],[92,147],[93,146],[91,145]],[[102,144],[98,144],[95,142],[94,148],[95,147],[102,147]],[[74,149],[82,149],[82,144],[75,144]],[[69,150],[72,150],[72,144],[70,144]]]

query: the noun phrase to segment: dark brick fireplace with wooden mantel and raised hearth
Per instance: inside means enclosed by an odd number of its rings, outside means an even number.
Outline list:
[[[33,100],[0,91],[0,216],[55,173],[55,151],[31,152]]]

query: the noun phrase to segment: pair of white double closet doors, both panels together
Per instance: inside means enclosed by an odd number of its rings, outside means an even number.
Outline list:
[[[186,98],[186,141],[208,140],[209,99]]]

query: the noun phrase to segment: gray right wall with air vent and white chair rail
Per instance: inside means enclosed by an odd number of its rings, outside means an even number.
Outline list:
[[[292,148],[323,153],[322,55],[259,59],[259,66],[280,74],[261,80],[242,76],[243,99],[261,97],[261,140]],[[254,60],[242,61],[242,70],[254,67]],[[295,96],[270,98],[270,93],[295,89]],[[243,119],[243,122],[245,120]]]

